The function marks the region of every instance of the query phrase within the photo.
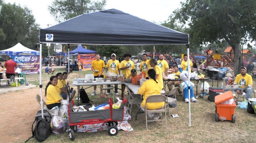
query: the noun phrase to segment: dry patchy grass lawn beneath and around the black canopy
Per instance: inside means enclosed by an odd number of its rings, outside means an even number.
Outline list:
[[[56,69],[54,75],[57,72],[64,72],[64,69]],[[73,83],[75,77],[84,78],[87,73],[92,73],[92,71],[73,71],[73,73],[70,73],[70,83]],[[47,73],[42,75],[43,95],[45,85],[51,76]],[[39,75],[26,75],[26,78],[29,83],[39,85]],[[253,80],[255,81],[255,78]],[[202,82],[200,83],[202,84]],[[221,86],[221,83],[222,81],[219,82],[219,86]],[[210,82],[209,84],[211,86]],[[217,87],[217,81],[214,83],[214,87]],[[73,88],[77,91],[77,87]],[[97,87],[96,96],[90,96],[92,91],[92,87],[86,90],[93,104],[108,102],[108,97],[100,98],[99,87]],[[127,95],[126,91],[125,95]],[[182,96],[177,95],[180,118],[169,118],[167,114],[167,129],[165,128],[165,122],[160,121],[148,124],[148,130],[146,130],[143,114],[139,114],[138,120],[135,121],[135,115],[139,108],[134,105],[131,115],[132,120],[128,121],[134,131],[125,132],[120,130],[116,136],[110,136],[107,131],[76,132],[75,142],[255,142],[253,141],[256,137],[255,115],[247,113],[246,109],[235,108],[235,123],[231,121],[216,122],[215,103],[210,102],[207,97],[208,95],[204,98],[199,97],[197,103],[191,103],[191,127],[188,127],[188,104],[184,103]],[[242,100],[241,97],[239,101]],[[75,100],[75,104],[76,102]],[[171,114],[175,113],[175,110],[173,110]],[[30,142],[36,142],[36,140],[32,138]],[[68,133],[64,133],[60,135],[51,134],[45,142],[71,142],[71,140]]]

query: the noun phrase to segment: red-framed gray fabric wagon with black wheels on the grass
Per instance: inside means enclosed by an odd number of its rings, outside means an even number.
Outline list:
[[[89,125],[96,123],[108,123],[108,133],[116,135],[118,133],[117,121],[123,121],[124,109],[113,109],[113,100],[109,98],[109,109],[73,112],[74,100],[68,105],[69,126],[77,128],[78,125]],[[68,129],[68,135],[71,140],[75,140],[75,130]]]

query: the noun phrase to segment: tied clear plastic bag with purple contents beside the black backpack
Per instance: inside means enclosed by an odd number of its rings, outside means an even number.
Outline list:
[[[59,114],[59,108],[58,107],[53,107],[53,118],[51,120],[51,128],[53,131],[53,134],[62,134],[65,131],[65,122],[63,119],[61,119]]]

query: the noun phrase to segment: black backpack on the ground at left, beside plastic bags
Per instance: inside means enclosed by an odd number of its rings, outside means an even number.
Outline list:
[[[42,112],[41,110],[39,110],[36,114],[35,121],[33,122],[31,127],[32,137],[35,137],[36,140],[38,140],[39,142],[46,140],[46,138],[49,137],[49,135],[51,134],[50,121],[51,121],[51,115],[49,114],[49,112],[47,110],[44,110],[44,119],[43,119]],[[36,122],[36,125],[33,130],[35,122]],[[32,137],[30,137],[29,139],[31,139]],[[27,142],[28,140],[26,140],[25,142]]]

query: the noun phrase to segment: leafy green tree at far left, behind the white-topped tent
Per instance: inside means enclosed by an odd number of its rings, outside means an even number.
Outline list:
[[[39,25],[27,7],[5,4],[0,1],[0,50],[8,49],[18,42],[33,48],[39,39]]]

